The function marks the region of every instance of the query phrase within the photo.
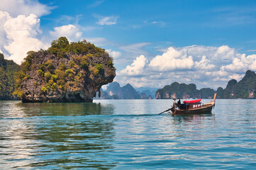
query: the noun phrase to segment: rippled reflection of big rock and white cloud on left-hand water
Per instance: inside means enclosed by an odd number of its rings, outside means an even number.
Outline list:
[[[106,157],[114,149],[114,119],[104,118],[113,114],[111,104],[2,101],[0,109],[1,167],[109,169],[116,164]]]

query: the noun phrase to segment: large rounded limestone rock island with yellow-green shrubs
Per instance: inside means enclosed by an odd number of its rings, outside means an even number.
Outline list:
[[[13,94],[23,102],[92,101],[115,76],[113,59],[104,49],[62,37],[48,50],[28,52]]]

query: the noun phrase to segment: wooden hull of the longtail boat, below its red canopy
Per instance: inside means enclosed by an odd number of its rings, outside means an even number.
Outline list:
[[[213,109],[213,105],[211,105],[211,106],[201,106],[199,108],[191,108],[191,109],[188,109],[188,110],[176,110],[172,113],[172,115],[211,113],[212,109]]]

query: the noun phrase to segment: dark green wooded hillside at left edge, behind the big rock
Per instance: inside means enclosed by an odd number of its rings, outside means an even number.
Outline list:
[[[12,60],[4,60],[0,53],[0,99],[13,99],[14,74],[20,67]]]

